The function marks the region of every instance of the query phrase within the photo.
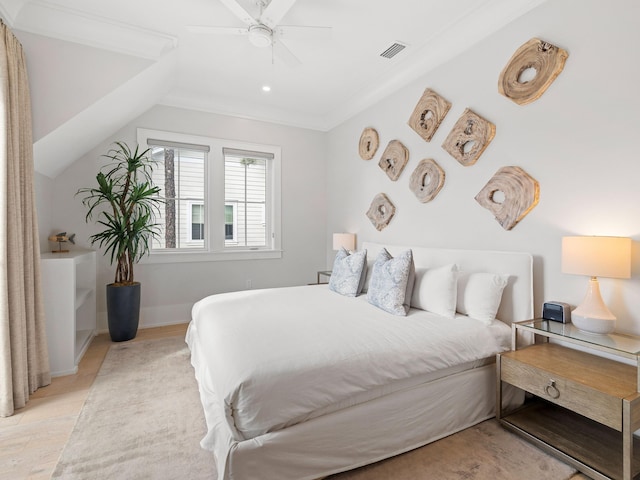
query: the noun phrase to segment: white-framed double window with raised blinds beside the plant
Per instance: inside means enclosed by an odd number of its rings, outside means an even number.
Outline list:
[[[281,256],[279,147],[147,129],[138,143],[164,200],[150,262]]]

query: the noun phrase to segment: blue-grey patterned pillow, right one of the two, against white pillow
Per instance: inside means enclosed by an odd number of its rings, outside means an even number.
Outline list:
[[[373,264],[367,300],[394,315],[406,315],[411,304],[415,281],[413,252],[407,250],[393,258],[386,248]]]

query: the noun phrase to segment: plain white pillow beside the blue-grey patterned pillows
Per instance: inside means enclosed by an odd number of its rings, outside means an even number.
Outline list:
[[[411,306],[447,318],[456,316],[458,266],[417,268]]]

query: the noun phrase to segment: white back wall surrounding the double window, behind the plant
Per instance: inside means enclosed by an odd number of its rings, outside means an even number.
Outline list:
[[[193,303],[206,295],[252,288],[303,285],[315,281],[325,266],[326,134],[177,108],[156,106],[120,132],[78,159],[54,181],[52,224],[77,233],[79,246],[89,247],[93,225],[84,222],[85,210],[75,192],[93,186],[95,175],[115,140],[135,144],[136,128],[227,138],[282,148],[281,259],[140,264],[136,280],[142,283],[141,326],[186,322]],[[98,328],[106,329],[104,290],[113,282],[114,268],[98,256]]]

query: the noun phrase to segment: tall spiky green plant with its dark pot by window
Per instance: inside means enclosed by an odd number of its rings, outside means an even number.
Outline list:
[[[151,240],[159,234],[154,212],[162,200],[151,178],[155,162],[149,149],[140,152],[136,146],[132,151],[126,143],[115,142],[104,157],[111,162],[98,172],[98,186],[81,188],[76,195],[85,195],[85,221],[95,213],[96,224],[102,226],[89,237],[91,244],[104,247],[111,265],[116,264],[115,280],[107,285],[107,317],[111,340],[123,342],[138,331],[141,287],[134,281],[133,266],[149,253]]]

